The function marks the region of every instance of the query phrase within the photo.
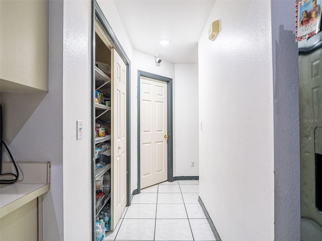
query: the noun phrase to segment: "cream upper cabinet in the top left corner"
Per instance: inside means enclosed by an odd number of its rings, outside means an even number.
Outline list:
[[[0,90],[48,91],[48,0],[0,1]]]

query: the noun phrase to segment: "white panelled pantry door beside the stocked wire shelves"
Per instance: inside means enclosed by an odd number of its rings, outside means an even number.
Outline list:
[[[111,67],[111,229],[126,206],[126,65],[112,49]]]

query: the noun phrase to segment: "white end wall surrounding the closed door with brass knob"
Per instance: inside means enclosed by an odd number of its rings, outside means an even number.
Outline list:
[[[160,66],[156,66],[154,56],[134,50],[131,68],[131,189],[137,187],[134,173],[134,169],[137,170],[137,142],[134,140],[137,140],[138,70],[173,79],[173,176],[198,176],[198,65],[163,60]],[[190,167],[191,161],[195,161],[194,168]]]

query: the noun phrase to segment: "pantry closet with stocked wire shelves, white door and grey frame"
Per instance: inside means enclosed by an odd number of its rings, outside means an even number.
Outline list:
[[[92,239],[97,240],[115,229],[131,200],[130,61],[98,3],[92,3]]]

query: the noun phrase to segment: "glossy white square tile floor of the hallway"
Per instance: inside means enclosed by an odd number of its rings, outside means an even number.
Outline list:
[[[216,240],[198,196],[197,180],[163,182],[142,189],[105,240]]]

